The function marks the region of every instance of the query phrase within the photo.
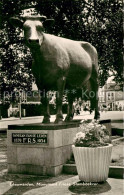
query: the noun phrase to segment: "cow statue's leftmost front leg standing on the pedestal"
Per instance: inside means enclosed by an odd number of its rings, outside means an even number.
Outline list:
[[[43,113],[44,113],[44,118],[42,123],[50,123],[49,100],[47,98],[46,93],[43,94],[43,97],[41,98],[41,103],[43,105]]]

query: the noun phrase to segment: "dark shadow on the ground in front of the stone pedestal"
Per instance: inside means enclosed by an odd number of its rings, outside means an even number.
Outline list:
[[[61,174],[56,177],[50,177],[23,174],[9,174],[6,172],[4,175],[0,176],[0,183],[10,181],[11,188],[8,191],[6,191],[3,195],[23,195],[23,193],[29,190],[41,188],[48,184],[56,183],[58,181],[61,182],[62,180],[71,177],[73,177],[73,175]]]

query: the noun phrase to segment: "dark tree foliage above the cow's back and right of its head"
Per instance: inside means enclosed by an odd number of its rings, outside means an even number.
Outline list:
[[[120,0],[37,0],[36,9],[55,19],[53,34],[92,43],[99,56],[100,85],[110,73],[123,85]],[[50,29],[49,29],[50,30]]]

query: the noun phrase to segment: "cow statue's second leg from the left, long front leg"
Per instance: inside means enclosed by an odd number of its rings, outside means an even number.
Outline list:
[[[62,123],[63,121],[63,114],[62,114],[62,101],[63,101],[63,92],[65,88],[65,78],[60,78],[57,81],[57,88],[58,91],[56,93],[56,120],[55,123]]]

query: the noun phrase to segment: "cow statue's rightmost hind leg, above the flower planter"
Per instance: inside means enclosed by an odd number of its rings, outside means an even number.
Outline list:
[[[98,83],[97,81],[91,80],[92,95],[90,95],[91,110],[95,110],[94,119],[100,118],[99,107],[98,107]]]

